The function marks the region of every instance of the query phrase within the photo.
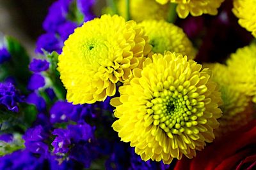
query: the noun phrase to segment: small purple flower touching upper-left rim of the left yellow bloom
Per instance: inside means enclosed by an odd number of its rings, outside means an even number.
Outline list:
[[[74,32],[74,29],[76,29],[77,24],[74,22],[67,21],[64,24],[60,25],[58,28],[58,33],[60,34],[60,37],[63,41],[65,41],[70,34]]]

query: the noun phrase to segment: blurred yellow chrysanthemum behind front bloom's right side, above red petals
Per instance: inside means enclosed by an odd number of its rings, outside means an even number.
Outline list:
[[[220,86],[223,116],[218,120],[220,127],[214,131],[217,137],[235,131],[252,120],[252,105],[244,93],[239,92],[228,67],[219,64],[204,64],[212,70],[212,80]]]

